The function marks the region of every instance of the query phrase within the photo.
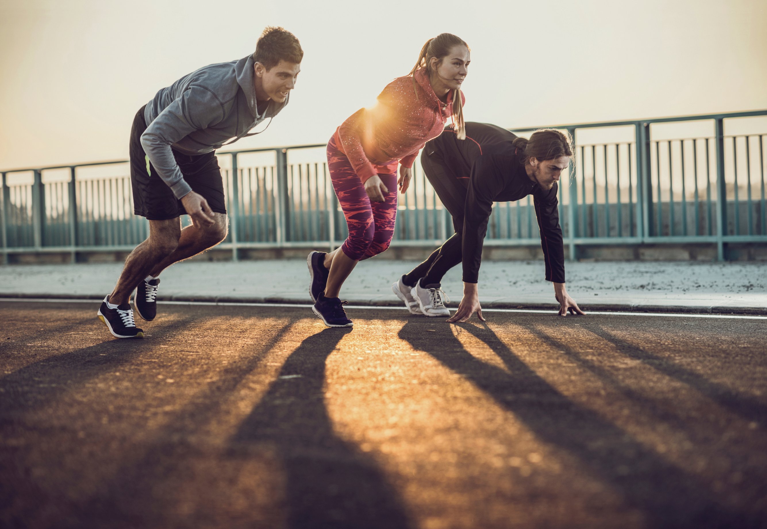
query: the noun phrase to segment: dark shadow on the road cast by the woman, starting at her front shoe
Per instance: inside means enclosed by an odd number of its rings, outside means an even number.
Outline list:
[[[325,363],[351,329],[306,338],[232,437],[229,455],[273,446],[285,468],[288,527],[410,527],[397,492],[372,458],[334,432]]]

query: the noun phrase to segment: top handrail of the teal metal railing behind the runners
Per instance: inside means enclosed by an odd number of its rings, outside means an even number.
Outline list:
[[[673,121],[698,121],[698,120],[726,120],[732,117],[755,117],[755,116],[767,116],[767,109],[765,110],[746,110],[742,112],[725,112],[725,113],[712,113],[712,114],[696,114],[690,116],[676,116],[676,117],[653,117],[645,120],[623,120],[623,121],[604,121],[593,123],[571,123],[566,125],[550,125],[550,126],[522,126],[509,128],[511,132],[529,132],[531,130],[538,130],[542,128],[548,129],[585,129],[594,128],[599,126],[627,126],[637,125],[641,123],[643,125],[650,123],[669,123]],[[739,135],[742,136],[742,135]],[[619,143],[634,143],[634,142],[619,142]],[[272,147],[258,147],[255,149],[235,149],[219,151],[218,154],[238,155],[243,153],[266,153],[269,151],[281,150],[286,153],[291,149],[315,149],[318,147],[324,147],[324,143],[307,143],[303,145],[291,145],[291,146],[272,146]],[[72,167],[87,167],[87,166],[106,166],[116,163],[128,163],[130,160],[117,159],[106,160],[104,162],[88,162],[88,163],[67,163],[56,166],[42,166],[42,167],[26,167],[22,169],[2,169],[0,172],[27,172],[27,171],[48,171],[51,169],[71,169]]]

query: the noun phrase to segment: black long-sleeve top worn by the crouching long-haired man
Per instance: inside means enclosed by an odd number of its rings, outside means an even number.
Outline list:
[[[463,281],[476,283],[482,262],[482,245],[493,202],[508,202],[533,195],[541,232],[546,281],[565,282],[565,246],[559,225],[558,184],[542,189],[533,182],[515,155],[516,136],[487,123],[466,123],[466,140],[443,133],[433,148],[455,174],[469,173],[463,218]],[[439,143],[437,143],[439,142]]]

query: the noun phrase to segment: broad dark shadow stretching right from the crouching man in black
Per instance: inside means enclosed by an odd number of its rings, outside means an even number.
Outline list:
[[[437,326],[436,336],[424,336],[422,325],[408,322],[399,336],[466,377],[542,442],[577,458],[593,478],[621,494],[627,506],[639,509],[648,527],[758,527],[759,521],[717,501],[706,484],[568,399],[489,327],[469,324],[461,329],[486,343],[510,373],[472,356],[448,326]]]

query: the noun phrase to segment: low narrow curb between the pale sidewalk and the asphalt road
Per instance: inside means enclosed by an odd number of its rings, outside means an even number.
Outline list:
[[[94,294],[4,294],[0,292],[0,297],[11,297],[16,299],[35,298],[35,299],[92,299],[100,301],[104,299],[100,295]],[[295,299],[291,297],[280,296],[255,296],[255,297],[232,297],[232,296],[160,296],[157,301],[189,301],[206,303],[279,303],[279,304],[311,304],[311,300]],[[363,305],[366,307],[401,307],[399,300],[350,300],[350,304]],[[614,312],[668,312],[680,314],[749,314],[757,316],[767,315],[767,307],[730,307],[726,305],[657,305],[657,304],[598,304],[588,303],[580,304],[584,311],[614,311]],[[483,301],[482,307],[485,308],[506,308],[506,309],[532,309],[556,311],[557,306],[553,303],[511,303],[508,301]],[[456,307],[452,307],[456,308]],[[403,307],[404,310],[404,307]]]

